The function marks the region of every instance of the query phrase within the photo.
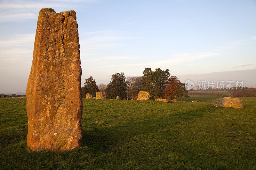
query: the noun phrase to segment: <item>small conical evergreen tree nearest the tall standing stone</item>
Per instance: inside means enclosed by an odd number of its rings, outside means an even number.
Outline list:
[[[96,81],[93,80],[92,76],[90,76],[89,78],[87,78],[84,82],[84,86],[82,87],[82,95],[83,98],[85,98],[87,93],[92,94],[92,96],[96,96],[96,92],[99,92],[99,88],[96,85]]]

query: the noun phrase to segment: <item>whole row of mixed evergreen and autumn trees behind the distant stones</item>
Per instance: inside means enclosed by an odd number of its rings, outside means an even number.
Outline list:
[[[95,79],[90,76],[84,82],[82,87],[83,98],[87,93],[95,96],[96,92],[106,92],[106,98],[112,99],[119,96],[121,99],[137,100],[139,91],[147,91],[150,93],[150,99],[181,99],[189,98],[185,84],[175,77],[170,77],[169,69],[161,70],[157,68],[152,71],[151,68],[145,68],[143,76],[125,77],[124,72],[114,73],[108,85],[96,85]]]

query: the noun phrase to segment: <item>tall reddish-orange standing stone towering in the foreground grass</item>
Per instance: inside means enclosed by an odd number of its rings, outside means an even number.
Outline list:
[[[81,74],[76,12],[41,9],[27,85],[27,145],[32,151],[81,146]]]

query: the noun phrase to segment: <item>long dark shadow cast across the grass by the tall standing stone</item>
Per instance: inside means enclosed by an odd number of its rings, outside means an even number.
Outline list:
[[[166,116],[154,117],[145,120],[134,120],[132,123],[105,127],[92,125],[90,130],[83,130],[82,147],[87,146],[92,151],[105,152],[111,146],[119,146],[128,138],[135,136],[148,136],[152,133],[164,131],[163,129],[177,129],[180,126],[190,126],[198,118],[205,114],[211,114],[216,107],[204,106],[199,109],[186,111],[176,111]],[[211,108],[211,107],[210,107]],[[179,135],[178,132],[177,136]]]

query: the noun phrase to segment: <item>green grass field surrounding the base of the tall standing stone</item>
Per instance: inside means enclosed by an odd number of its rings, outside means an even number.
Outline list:
[[[256,105],[244,106],[83,100],[82,147],[55,153],[27,148],[25,99],[0,99],[0,168],[255,169]]]

